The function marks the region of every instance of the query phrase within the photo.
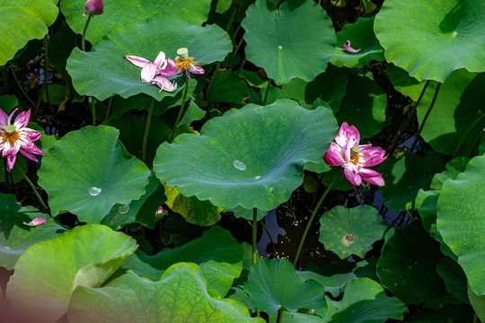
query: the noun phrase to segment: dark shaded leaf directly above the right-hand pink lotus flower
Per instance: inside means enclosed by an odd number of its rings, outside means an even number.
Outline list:
[[[379,133],[385,123],[387,96],[374,81],[354,73],[348,74],[347,93],[337,113],[339,123],[357,127],[361,138]]]

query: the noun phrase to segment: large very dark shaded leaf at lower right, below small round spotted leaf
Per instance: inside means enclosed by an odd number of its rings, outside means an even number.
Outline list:
[[[430,301],[445,292],[437,275],[437,263],[442,257],[439,244],[422,225],[410,223],[386,232],[377,275],[381,284],[405,303]]]

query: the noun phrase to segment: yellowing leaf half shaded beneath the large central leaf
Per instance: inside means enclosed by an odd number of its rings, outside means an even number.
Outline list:
[[[209,226],[221,219],[224,209],[212,205],[209,201],[200,201],[196,196],[186,197],[179,188],[164,185],[166,204],[173,212],[181,214],[188,223]]]

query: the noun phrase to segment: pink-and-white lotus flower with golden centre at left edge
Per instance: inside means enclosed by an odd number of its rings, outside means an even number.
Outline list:
[[[34,153],[44,154],[33,144],[40,138],[40,132],[27,127],[31,118],[31,110],[19,113],[12,125],[10,122],[16,110],[14,109],[10,116],[7,116],[0,109],[0,152],[2,152],[2,157],[7,157],[7,169],[9,171],[13,169],[19,152],[34,162],[38,162],[37,157],[33,155]]]

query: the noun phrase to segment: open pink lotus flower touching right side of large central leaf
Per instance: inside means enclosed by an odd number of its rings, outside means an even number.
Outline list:
[[[331,143],[331,148],[325,153],[323,159],[331,166],[341,166],[345,177],[353,186],[362,184],[362,180],[377,186],[384,186],[384,179],[375,170],[367,169],[384,162],[387,157],[381,147],[372,147],[371,144],[361,144],[360,134],[354,126],[344,122]]]

